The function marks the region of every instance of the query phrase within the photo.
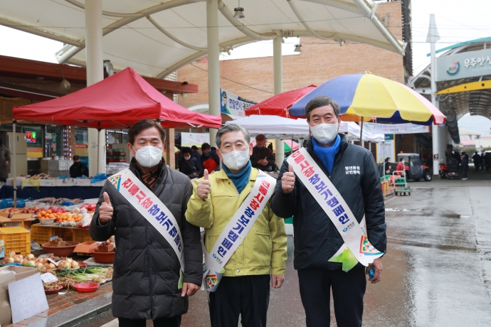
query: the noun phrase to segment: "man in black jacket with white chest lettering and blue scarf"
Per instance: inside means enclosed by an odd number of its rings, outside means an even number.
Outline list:
[[[305,148],[342,195],[358,223],[365,215],[371,244],[385,252],[385,209],[379,173],[369,151],[349,144],[344,134],[337,134],[341,122],[339,111],[339,105],[329,97],[315,97],[307,104],[305,114],[313,137]],[[361,326],[365,274],[373,267],[375,275],[369,280],[372,284],[379,282],[381,258],[366,269],[358,263],[349,272],[342,270],[342,264],[328,261],[344,241],[286,160],[271,208],[278,217],[293,216],[294,267],[298,271],[307,327],[330,326],[331,288],[337,326]]]

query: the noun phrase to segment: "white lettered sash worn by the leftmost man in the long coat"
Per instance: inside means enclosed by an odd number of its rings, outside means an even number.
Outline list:
[[[107,179],[172,247],[181,265],[178,284],[178,289],[181,289],[184,274],[184,246],[181,230],[171,210],[128,168]]]

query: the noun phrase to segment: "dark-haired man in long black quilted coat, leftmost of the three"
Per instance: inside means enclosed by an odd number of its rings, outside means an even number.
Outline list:
[[[115,235],[112,315],[119,326],[144,327],[152,319],[155,327],[179,327],[203,277],[199,227],[184,217],[193,186],[167,168],[159,123],[134,123],[128,141],[134,158],[102,187],[90,236]]]

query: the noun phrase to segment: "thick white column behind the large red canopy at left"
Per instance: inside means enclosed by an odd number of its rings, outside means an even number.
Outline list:
[[[85,3],[85,57],[87,58],[87,86],[104,79],[102,53],[102,0]],[[89,175],[105,173],[105,129],[88,129]]]

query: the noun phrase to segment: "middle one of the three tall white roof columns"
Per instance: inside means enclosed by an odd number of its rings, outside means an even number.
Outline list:
[[[218,0],[206,1],[206,36],[208,41],[208,107],[220,116],[220,41],[218,40]],[[210,129],[210,144],[216,146],[217,129]]]

